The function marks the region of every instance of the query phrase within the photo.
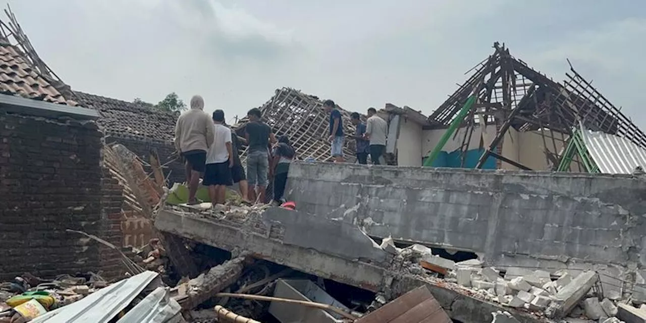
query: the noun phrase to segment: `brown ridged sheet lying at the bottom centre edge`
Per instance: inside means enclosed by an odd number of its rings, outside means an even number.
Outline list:
[[[426,286],[409,291],[379,307],[357,323],[451,323],[451,318]]]

